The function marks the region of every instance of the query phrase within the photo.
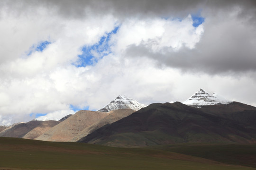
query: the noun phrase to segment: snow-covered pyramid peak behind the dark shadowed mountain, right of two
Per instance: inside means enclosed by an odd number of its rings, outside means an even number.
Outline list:
[[[232,101],[228,101],[224,99],[217,93],[213,93],[210,95],[208,92],[200,89],[196,93],[194,93],[190,98],[188,98],[183,104],[191,105],[191,106],[206,106],[206,105],[214,105],[214,104],[229,104]]]

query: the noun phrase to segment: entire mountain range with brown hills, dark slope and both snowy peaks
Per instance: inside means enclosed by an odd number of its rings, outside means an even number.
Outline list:
[[[185,102],[148,106],[124,95],[98,111],[59,121],[1,127],[0,136],[119,147],[174,143],[256,143],[256,107],[200,89]]]

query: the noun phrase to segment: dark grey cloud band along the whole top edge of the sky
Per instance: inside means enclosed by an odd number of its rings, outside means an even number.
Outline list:
[[[140,15],[182,17],[206,6],[230,8],[239,5],[250,9],[256,5],[254,0],[4,0],[0,3],[9,9],[18,10],[17,12],[42,6],[54,8],[64,17],[82,17],[86,11],[94,14],[112,13],[118,17]]]

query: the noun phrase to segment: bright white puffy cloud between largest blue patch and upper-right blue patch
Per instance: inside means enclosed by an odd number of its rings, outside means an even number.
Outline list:
[[[115,52],[125,51],[129,45],[144,44],[148,49],[154,52],[160,52],[163,49],[178,51],[183,46],[193,49],[199,42],[203,33],[203,26],[192,26],[191,15],[180,19],[153,18],[139,20],[129,18],[122,23],[119,31],[113,36],[117,44]]]

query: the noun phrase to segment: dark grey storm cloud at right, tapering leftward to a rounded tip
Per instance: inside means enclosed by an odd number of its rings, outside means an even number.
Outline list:
[[[249,32],[252,28],[242,28],[208,31],[206,26],[201,41],[192,50],[183,47],[172,51],[166,47],[161,52],[154,52],[141,43],[130,45],[126,54],[128,57],[152,58],[158,65],[186,72],[202,71],[214,75],[256,71],[256,32]]]

